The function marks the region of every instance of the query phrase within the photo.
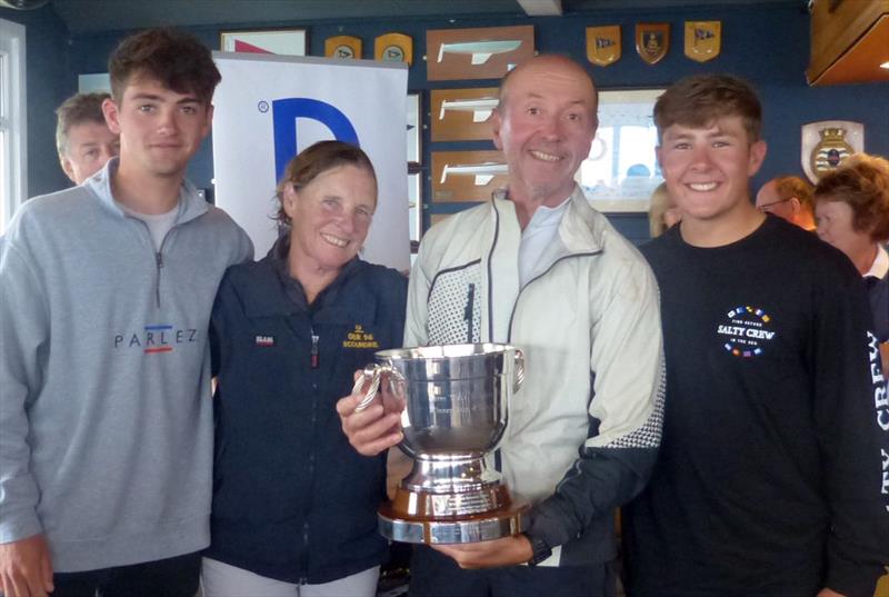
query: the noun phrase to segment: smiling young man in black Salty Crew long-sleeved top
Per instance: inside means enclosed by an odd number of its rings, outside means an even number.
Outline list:
[[[667,406],[623,510],[627,591],[870,597],[889,559],[889,401],[861,277],[750,200],[766,142],[748,83],[683,79],[655,122],[682,222],[642,248]]]

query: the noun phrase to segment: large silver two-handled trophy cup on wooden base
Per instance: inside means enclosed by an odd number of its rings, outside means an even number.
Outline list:
[[[413,459],[391,501],[379,509],[380,533],[393,540],[461,544],[523,530],[528,505],[515,500],[485,462],[509,422],[509,404],[525,377],[518,348],[499,344],[381,350],[356,384],[371,381],[359,409],[384,381],[403,400],[399,447]]]

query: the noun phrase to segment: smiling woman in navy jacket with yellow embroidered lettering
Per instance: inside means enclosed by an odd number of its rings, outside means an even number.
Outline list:
[[[407,279],[358,258],[377,179],[357,147],[308,148],[278,198],[289,233],[228,270],[212,314],[204,595],[369,597],[387,551],[376,514],[386,461],[349,446],[336,402],[374,351],[401,346]]]

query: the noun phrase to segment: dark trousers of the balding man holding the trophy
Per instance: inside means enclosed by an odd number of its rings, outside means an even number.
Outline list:
[[[410,565],[410,597],[613,597],[609,564],[507,566],[463,570],[451,558],[417,546]]]

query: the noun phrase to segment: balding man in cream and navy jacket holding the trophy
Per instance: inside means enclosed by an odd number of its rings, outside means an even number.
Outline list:
[[[533,506],[521,535],[418,548],[413,595],[613,590],[613,513],[655,462],[663,362],[651,271],[573,180],[596,110],[596,88],[577,62],[541,56],[519,66],[492,116],[509,189],[423,238],[404,344],[509,342],[525,351],[525,385],[500,451],[507,482]],[[352,445],[362,454],[394,445],[398,414],[379,405],[354,412],[359,399],[338,407]]]

